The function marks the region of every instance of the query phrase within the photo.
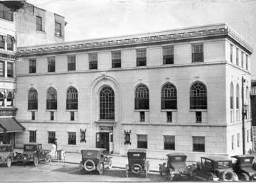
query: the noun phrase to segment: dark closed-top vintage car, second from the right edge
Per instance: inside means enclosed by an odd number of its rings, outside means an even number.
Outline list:
[[[201,157],[196,163],[194,179],[203,181],[238,181],[238,174],[233,171],[232,160],[228,157]]]

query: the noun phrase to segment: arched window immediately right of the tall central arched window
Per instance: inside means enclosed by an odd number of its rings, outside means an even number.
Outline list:
[[[149,89],[144,84],[135,90],[135,109],[149,109]]]

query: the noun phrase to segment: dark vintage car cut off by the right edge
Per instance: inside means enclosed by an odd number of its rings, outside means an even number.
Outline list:
[[[233,170],[238,174],[238,177],[242,181],[254,180],[256,181],[256,170],[253,169],[253,155],[234,155],[236,159],[233,164]]]

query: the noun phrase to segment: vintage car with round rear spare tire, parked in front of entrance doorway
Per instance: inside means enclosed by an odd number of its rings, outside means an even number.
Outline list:
[[[82,161],[80,162],[81,172],[98,172],[103,174],[104,168],[112,167],[112,156],[103,148],[90,148],[81,150]]]

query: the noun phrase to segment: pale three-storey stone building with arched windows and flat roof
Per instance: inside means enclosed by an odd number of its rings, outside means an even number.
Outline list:
[[[16,143],[149,157],[242,153],[252,47],[225,23],[18,48]],[[247,109],[248,110],[248,109]],[[245,119],[245,148],[251,148]],[[21,141],[21,142],[20,142]]]

